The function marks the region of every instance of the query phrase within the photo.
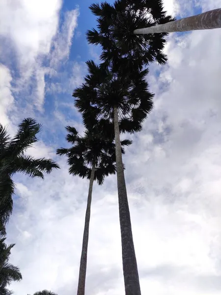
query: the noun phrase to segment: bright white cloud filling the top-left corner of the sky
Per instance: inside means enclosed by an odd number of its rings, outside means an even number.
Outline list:
[[[58,26],[61,0],[3,1],[0,4],[0,34],[11,38],[21,67],[48,54]]]

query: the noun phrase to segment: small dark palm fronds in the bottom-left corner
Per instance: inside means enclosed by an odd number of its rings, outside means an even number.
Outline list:
[[[0,233],[0,294],[1,295],[11,295],[12,291],[7,289],[7,286],[11,284],[12,281],[20,281],[22,275],[17,266],[13,266],[9,261],[9,256],[11,254],[11,249],[15,244],[6,245],[5,244],[5,233],[4,231]]]

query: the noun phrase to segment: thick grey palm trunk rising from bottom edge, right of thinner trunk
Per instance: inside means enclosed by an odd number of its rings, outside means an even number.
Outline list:
[[[118,110],[116,107],[113,109],[113,119],[125,295],[141,295],[120,145]]]

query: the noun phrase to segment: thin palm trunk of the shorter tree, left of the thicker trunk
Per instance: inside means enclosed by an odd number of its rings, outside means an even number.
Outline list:
[[[86,278],[86,268],[87,268],[87,246],[88,246],[88,236],[89,236],[90,207],[91,207],[94,174],[95,174],[95,163],[93,163],[91,168],[91,175],[90,175],[90,182],[89,182],[77,295],[84,295],[84,292],[85,292],[85,278]]]

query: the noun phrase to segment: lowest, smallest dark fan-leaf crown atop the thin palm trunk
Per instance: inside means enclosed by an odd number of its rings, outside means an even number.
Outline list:
[[[74,127],[67,126],[66,130],[68,131],[66,140],[72,144],[72,147],[58,148],[57,154],[68,157],[71,175],[90,179],[93,163],[95,163],[94,180],[97,180],[98,184],[102,184],[108,175],[115,174],[113,139],[101,135],[97,132],[97,127],[90,128],[90,131],[86,130],[84,136],[80,136]],[[123,153],[123,146],[129,146],[131,143],[129,140],[122,141]]]

